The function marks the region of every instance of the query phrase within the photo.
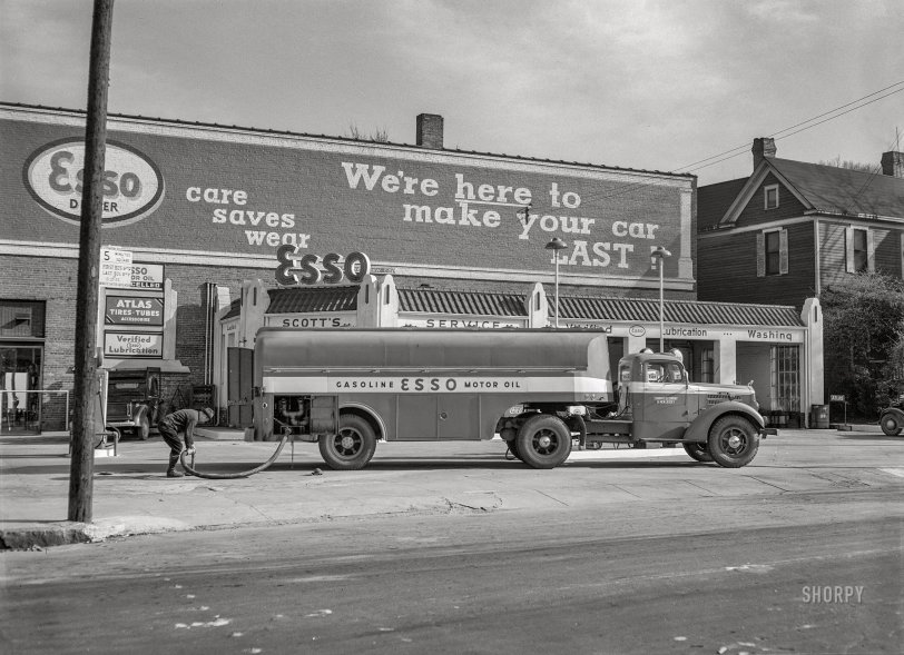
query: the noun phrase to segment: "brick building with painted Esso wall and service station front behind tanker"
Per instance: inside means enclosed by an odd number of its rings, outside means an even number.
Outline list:
[[[10,416],[66,424],[83,135],[83,112],[0,103],[7,428]],[[694,176],[448,149],[434,115],[417,117],[415,135],[405,145],[110,116],[101,242],[131,256],[126,279],[100,288],[110,379],[147,376],[166,408],[200,389],[240,425],[229,353],[261,325],[542,327],[557,296],[562,327],[610,331],[616,349],[658,347],[656,247],[670,251],[667,347],[684,349],[694,379],[758,370],[776,339],[810,361],[812,314],[695,301]],[[371,290],[391,310],[369,308]]]

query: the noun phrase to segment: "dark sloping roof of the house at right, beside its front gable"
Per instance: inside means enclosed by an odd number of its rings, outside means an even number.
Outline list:
[[[778,171],[809,204],[824,214],[867,214],[904,218],[904,179],[836,166],[769,158]]]

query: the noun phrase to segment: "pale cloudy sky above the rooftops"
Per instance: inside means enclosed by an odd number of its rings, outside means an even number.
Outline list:
[[[91,13],[0,0],[0,101],[85,109]],[[902,33],[901,0],[117,0],[108,112],[396,143],[438,113],[446,148],[707,185],[756,137],[901,150]]]

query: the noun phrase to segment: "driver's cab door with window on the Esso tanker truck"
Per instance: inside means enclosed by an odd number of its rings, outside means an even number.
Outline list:
[[[680,439],[689,423],[685,367],[674,359],[650,359],[643,364],[642,388],[641,398],[635,398],[635,405],[641,405],[642,423],[636,426],[636,435],[645,439]]]

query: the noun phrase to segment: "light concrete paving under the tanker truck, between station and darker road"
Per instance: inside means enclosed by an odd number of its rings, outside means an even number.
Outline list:
[[[275,463],[249,477],[167,478],[168,448],[159,437],[124,438],[114,454],[95,458],[92,522],[66,520],[68,435],[0,435],[0,549],[45,548],[171,530],[324,522],[340,517],[556,508],[582,503],[675,500],[694,496],[778,494],[904,484],[904,450],[849,470],[795,466],[805,451],[826,464],[844,448],[873,440],[904,445],[877,426],[851,431],[783,429],[765,439],[754,463],[721,469],[692,462],[681,447],[576,450],[566,465],[534,470],[511,456],[504,441],[379,444],[371,464],[334,472],[315,444],[286,444]],[[829,445],[832,445],[829,447]],[[237,430],[197,430],[194,468],[229,475],[259,466],[275,443],[246,443]],[[808,459],[810,462],[810,459]],[[817,467],[818,468],[818,467]],[[617,478],[617,479],[616,479]]]

